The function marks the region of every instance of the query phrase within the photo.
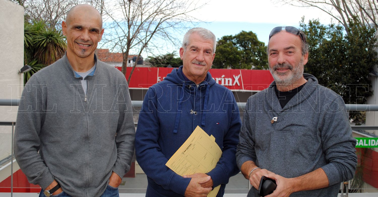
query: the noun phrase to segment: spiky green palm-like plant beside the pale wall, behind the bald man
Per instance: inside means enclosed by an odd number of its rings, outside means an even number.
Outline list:
[[[33,69],[24,73],[24,84],[38,70],[61,58],[66,48],[65,37],[60,31],[48,27],[44,21],[25,21],[24,63]]]

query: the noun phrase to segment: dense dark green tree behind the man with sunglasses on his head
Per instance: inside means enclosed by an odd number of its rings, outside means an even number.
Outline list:
[[[369,72],[378,64],[375,29],[350,20],[346,34],[341,24],[325,26],[319,20],[300,23],[310,46],[305,72],[342,96],[345,104],[366,104],[372,95]],[[363,114],[350,113],[357,124]]]

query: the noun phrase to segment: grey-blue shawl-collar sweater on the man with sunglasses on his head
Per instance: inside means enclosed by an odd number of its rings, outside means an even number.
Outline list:
[[[304,74],[307,83],[281,108],[275,82],[251,96],[239,134],[236,160],[239,169],[252,160],[257,166],[286,178],[322,168],[329,186],[301,191],[291,197],[337,196],[338,183],[353,178],[356,170],[356,140],[341,96]],[[277,117],[277,121],[272,119]],[[311,183],[303,183],[311,184]],[[248,197],[257,197],[252,188]]]

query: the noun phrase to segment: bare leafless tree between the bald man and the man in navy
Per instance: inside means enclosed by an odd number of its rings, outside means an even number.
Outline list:
[[[107,34],[104,39],[107,44],[115,45],[114,50],[123,53],[122,73],[126,75],[130,51],[137,52],[138,61],[147,48],[149,51],[158,48],[156,40],[178,45],[174,34],[185,29],[188,22],[197,20],[189,13],[204,6],[198,6],[198,2],[199,0],[116,0],[111,7],[105,8],[104,14],[112,20],[109,25],[112,34]],[[129,82],[137,61],[134,62]]]

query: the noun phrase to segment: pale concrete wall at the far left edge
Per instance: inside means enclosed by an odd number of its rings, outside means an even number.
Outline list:
[[[24,9],[8,0],[0,5],[0,99],[17,99],[23,86],[18,71],[23,67]],[[0,106],[0,121],[16,117],[17,107]],[[11,154],[11,133],[11,126],[0,126],[0,160]]]

